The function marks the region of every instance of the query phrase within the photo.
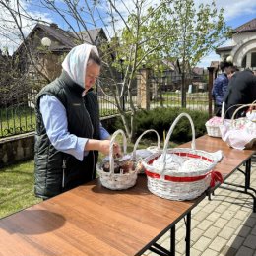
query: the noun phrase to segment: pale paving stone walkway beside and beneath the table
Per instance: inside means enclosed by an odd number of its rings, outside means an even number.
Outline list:
[[[226,181],[244,184],[235,171]],[[252,161],[251,187],[256,189],[256,160]],[[252,198],[218,188],[212,200],[205,198],[192,210],[191,256],[256,256],[256,213]],[[169,250],[169,232],[159,242]],[[147,251],[144,255],[157,254]],[[185,255],[185,224],[176,224],[176,255]]]

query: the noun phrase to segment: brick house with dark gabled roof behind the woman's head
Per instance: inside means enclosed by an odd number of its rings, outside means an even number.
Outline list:
[[[42,38],[48,38],[50,45],[43,46]],[[75,34],[62,30],[54,23],[49,26],[37,23],[14,54],[19,56],[21,70],[29,71],[31,76],[38,74],[39,70],[39,73],[52,81],[61,73],[61,63],[71,48],[84,42],[100,45],[104,40],[107,40],[107,37],[101,28]],[[30,47],[37,71],[25,47]]]

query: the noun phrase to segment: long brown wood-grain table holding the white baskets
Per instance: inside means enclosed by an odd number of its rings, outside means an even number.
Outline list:
[[[198,149],[224,151],[216,169],[225,176],[243,162],[249,164],[253,154],[208,136],[196,142]],[[141,255],[147,249],[175,255],[175,224],[184,217],[189,255],[191,210],[204,197],[187,202],[161,199],[148,191],[145,176],[125,191],[105,189],[95,180],[0,220],[0,255]],[[171,252],[156,243],[168,230]]]

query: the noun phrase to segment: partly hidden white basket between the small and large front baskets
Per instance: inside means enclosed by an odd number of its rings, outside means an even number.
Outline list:
[[[154,132],[157,135],[158,138],[158,145],[157,147],[148,147],[147,149],[142,149],[142,150],[137,150],[138,145],[142,139],[142,137],[149,133],[149,132]],[[159,133],[154,130],[154,129],[150,129],[147,130],[145,132],[143,132],[138,139],[136,140],[134,147],[133,147],[133,152],[132,152],[132,160],[135,162],[136,164],[136,169],[138,170],[138,173],[143,174],[144,173],[144,166],[142,164],[142,160],[146,159],[147,157],[149,157],[150,155],[152,155],[152,153],[154,152],[158,152],[160,151],[160,135]]]

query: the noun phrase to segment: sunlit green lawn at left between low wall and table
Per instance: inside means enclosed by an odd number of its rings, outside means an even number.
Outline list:
[[[0,218],[40,201],[33,194],[33,160],[0,170]]]

